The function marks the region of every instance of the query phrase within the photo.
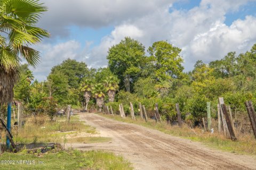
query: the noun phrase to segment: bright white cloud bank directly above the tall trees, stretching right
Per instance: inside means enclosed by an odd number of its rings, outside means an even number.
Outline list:
[[[108,48],[125,36],[138,39],[146,47],[157,40],[167,40],[182,48],[186,70],[192,69],[197,60],[210,62],[231,51],[245,52],[256,43],[256,18],[246,16],[245,20],[236,20],[230,27],[224,22],[228,11],[238,10],[246,2],[203,0],[199,7],[172,13],[166,6],[159,7],[148,15],[119,24],[111,35],[102,38],[90,56],[97,56],[97,61],[106,63]],[[100,65],[90,58],[87,61]]]

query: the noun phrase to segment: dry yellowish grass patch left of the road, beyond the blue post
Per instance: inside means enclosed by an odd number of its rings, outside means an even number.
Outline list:
[[[14,121],[12,121],[14,122]],[[88,134],[88,137],[78,138],[79,134]],[[12,127],[13,141],[18,145],[33,144],[42,145],[50,142],[107,142],[110,139],[102,137],[90,137],[90,134],[97,134],[95,128],[79,121],[77,116],[71,116],[68,123],[65,117],[58,118],[57,122],[50,121],[47,116],[37,116],[26,118],[25,126],[18,131],[17,126]],[[2,143],[5,141],[5,135],[2,133]]]

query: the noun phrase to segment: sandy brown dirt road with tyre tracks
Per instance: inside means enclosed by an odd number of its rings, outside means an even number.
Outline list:
[[[256,158],[210,149],[197,142],[172,137],[139,125],[109,120],[92,113],[80,113],[107,143],[73,143],[81,150],[102,149],[129,159],[135,169],[256,169]]]

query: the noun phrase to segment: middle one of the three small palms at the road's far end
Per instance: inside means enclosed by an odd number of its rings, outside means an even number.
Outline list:
[[[100,112],[101,112],[101,108],[103,107],[104,98],[105,98],[104,90],[105,88],[101,83],[96,84],[93,88],[93,94],[96,99],[96,104],[99,106]]]

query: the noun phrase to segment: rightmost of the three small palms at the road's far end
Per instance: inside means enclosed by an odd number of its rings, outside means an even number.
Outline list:
[[[106,87],[109,102],[113,102],[118,89],[118,80],[114,76],[109,76],[104,80],[104,86]]]

